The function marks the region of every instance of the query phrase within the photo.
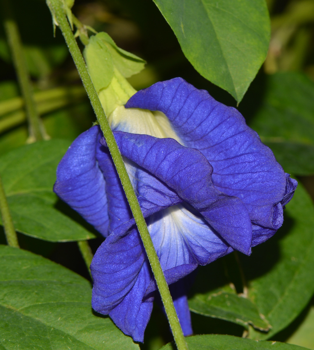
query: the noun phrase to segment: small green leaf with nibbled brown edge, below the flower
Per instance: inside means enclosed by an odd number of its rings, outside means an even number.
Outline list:
[[[246,329],[249,329],[249,324],[264,331],[270,328],[259,315],[256,305],[234,292],[220,290],[217,293],[196,294],[189,300],[189,306],[197,314],[237,323]]]

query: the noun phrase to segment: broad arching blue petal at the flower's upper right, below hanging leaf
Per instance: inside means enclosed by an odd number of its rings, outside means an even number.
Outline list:
[[[182,78],[137,92],[126,107],[164,112],[184,145],[199,149],[213,166],[215,187],[240,198],[253,222],[274,228],[273,207],[283,199],[285,174],[236,109]]]

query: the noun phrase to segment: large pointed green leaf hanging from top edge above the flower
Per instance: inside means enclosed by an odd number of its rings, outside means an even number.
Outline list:
[[[194,68],[240,102],[267,54],[264,0],[154,0]]]

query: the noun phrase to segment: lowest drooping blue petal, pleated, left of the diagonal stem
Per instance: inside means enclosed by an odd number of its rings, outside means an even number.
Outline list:
[[[154,210],[158,211],[159,206],[144,210],[143,214],[147,217],[154,214]],[[102,314],[109,314],[125,334],[141,342],[153,300],[143,301],[152,279],[146,259],[135,221],[131,219],[107,237],[91,264],[92,307]],[[185,269],[185,274],[193,269]]]

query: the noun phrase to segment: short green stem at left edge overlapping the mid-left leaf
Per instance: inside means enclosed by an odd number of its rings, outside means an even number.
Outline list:
[[[1,176],[0,176],[0,211],[1,211],[2,223],[3,223],[4,232],[7,238],[8,245],[11,247],[19,248],[19,242],[17,241],[17,235],[15,232],[12,217],[10,214],[7,197],[2,185]]]

